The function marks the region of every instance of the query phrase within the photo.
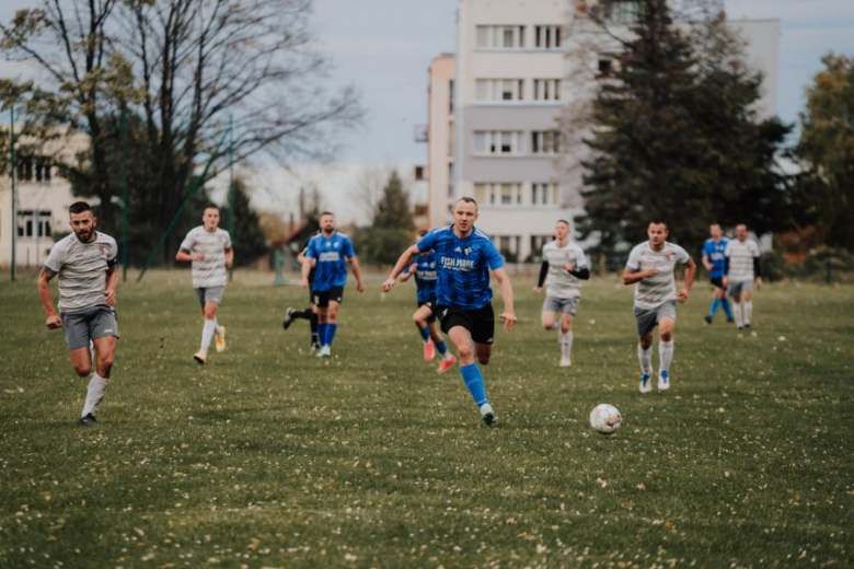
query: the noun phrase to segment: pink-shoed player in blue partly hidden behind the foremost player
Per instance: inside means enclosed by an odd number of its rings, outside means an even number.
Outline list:
[[[418,241],[427,234],[427,230],[418,232]],[[418,310],[412,315],[415,327],[418,328],[424,340],[424,361],[432,361],[436,350],[442,356],[439,363],[439,373],[445,373],[451,369],[457,358],[448,351],[439,330],[436,329],[436,314],[432,309],[436,306],[436,280],[438,274],[436,270],[436,255],[431,251],[422,253],[415,257],[415,263],[403,269],[401,282],[406,282],[409,277],[415,275],[415,286],[418,289]]]

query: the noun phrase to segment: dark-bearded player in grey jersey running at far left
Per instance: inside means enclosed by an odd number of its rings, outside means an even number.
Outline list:
[[[86,399],[78,422],[97,425],[95,408],[109,383],[118,338],[116,286],[118,260],[116,240],[95,231],[97,218],[85,201],[68,209],[73,233],[50,249],[38,275],[38,295],[49,329],[62,328],[71,365],[81,378],[92,373],[90,342],[94,345],[95,372],[89,381]],[[50,279],[59,276],[59,314],[50,297]]]

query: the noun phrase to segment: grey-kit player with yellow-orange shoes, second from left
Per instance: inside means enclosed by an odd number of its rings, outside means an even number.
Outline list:
[[[193,288],[205,318],[201,346],[193,359],[203,364],[208,360],[208,348],[214,336],[217,337],[217,351],[226,350],[226,326],[217,322],[217,310],[226,293],[226,269],[234,263],[231,236],[228,231],[219,229],[217,206],[205,208],[201,225],[189,230],[175,258],[182,263],[193,263]]]

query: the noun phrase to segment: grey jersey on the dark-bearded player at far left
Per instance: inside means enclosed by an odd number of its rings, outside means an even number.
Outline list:
[[[116,240],[100,231],[91,243],[83,243],[71,233],[54,244],[45,269],[59,275],[59,311],[105,304],[106,271],[117,260]]]

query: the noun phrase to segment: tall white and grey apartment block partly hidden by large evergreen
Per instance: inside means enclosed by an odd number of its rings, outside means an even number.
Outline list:
[[[578,44],[568,32],[577,3],[460,0],[457,53],[430,66],[431,227],[451,220],[457,198],[472,196],[477,227],[510,260],[524,262],[553,239],[558,219],[572,223],[582,211],[580,169],[567,169],[558,126],[573,101],[567,77]],[[633,16],[631,1],[600,3],[618,24]],[[773,115],[780,23],[731,25],[747,40],[747,62],[765,78],[760,112]],[[590,54],[591,79],[609,65],[609,49]]]

